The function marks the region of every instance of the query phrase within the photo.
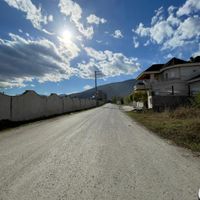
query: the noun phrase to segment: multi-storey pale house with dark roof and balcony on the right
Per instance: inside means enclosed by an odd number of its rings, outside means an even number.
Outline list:
[[[137,80],[134,92],[147,93],[148,108],[155,106],[156,99],[165,102],[165,105],[170,104],[167,100],[174,105],[174,99],[183,100],[200,92],[200,56],[190,61],[172,58],[165,64],[154,64],[143,71]],[[167,97],[165,101],[164,97]]]

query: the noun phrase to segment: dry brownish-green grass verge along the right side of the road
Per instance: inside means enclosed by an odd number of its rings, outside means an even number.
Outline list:
[[[200,152],[200,110],[179,108],[173,112],[127,112],[127,114],[163,138]]]

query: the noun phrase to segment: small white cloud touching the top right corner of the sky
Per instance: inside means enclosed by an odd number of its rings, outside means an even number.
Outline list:
[[[177,16],[190,15],[200,10],[199,0],[187,0],[177,11]]]

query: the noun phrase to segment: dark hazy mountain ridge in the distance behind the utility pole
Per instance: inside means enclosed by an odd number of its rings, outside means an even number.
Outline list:
[[[107,94],[108,99],[112,99],[112,97],[124,97],[133,92],[133,86],[135,85],[136,80],[127,80],[123,82],[117,83],[110,83],[106,85],[98,86],[98,90],[102,90],[104,93]],[[78,98],[91,98],[95,94],[95,88],[90,90],[86,90],[81,93],[71,94],[71,97],[78,97]]]

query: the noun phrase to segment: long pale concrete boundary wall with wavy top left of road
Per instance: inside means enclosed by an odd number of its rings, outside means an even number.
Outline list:
[[[103,103],[100,102],[100,105]],[[94,100],[71,99],[56,94],[42,96],[34,91],[26,91],[22,95],[11,97],[0,93],[0,120],[27,121],[95,106]]]

